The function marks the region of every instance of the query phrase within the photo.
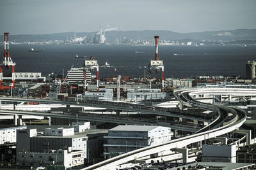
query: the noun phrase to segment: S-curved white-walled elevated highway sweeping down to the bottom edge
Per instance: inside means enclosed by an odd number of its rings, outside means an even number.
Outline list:
[[[154,153],[163,152],[166,149],[171,150],[173,148],[182,148],[191,143],[215,138],[228,132],[232,132],[241,127],[241,125],[243,125],[243,123],[246,121],[246,112],[244,112],[243,110],[239,110],[237,108],[228,108],[227,106],[216,106],[212,104],[205,104],[193,101],[193,99],[191,99],[191,97],[189,97],[188,95],[189,91],[185,92],[185,90],[176,90],[174,93],[175,97],[183,104],[192,107],[198,107],[201,109],[216,111],[218,113],[218,118],[216,118],[216,120],[211,122],[211,124],[209,124],[201,131],[198,131],[196,134],[186,136],[184,138],[174,139],[161,145],[147,146],[145,148],[140,148],[132,152],[124,153],[117,157],[113,157],[103,162],[99,162],[98,164],[95,164],[93,166],[86,167],[84,168],[84,170],[115,169],[115,167],[118,167],[118,165],[123,164],[124,162],[138,159],[140,157],[145,157]],[[230,113],[232,113],[234,117],[229,118],[228,115]]]

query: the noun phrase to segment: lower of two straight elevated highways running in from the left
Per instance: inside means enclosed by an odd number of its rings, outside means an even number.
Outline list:
[[[86,112],[72,112],[72,111],[26,111],[26,110],[0,110],[0,114],[4,115],[32,115],[38,117],[54,117],[54,118],[70,118],[74,120],[87,120],[95,122],[110,122],[115,124],[130,124],[130,125],[167,125],[175,130],[195,132],[198,127],[183,122],[173,121],[157,121],[156,118],[133,118],[119,115],[103,115]]]

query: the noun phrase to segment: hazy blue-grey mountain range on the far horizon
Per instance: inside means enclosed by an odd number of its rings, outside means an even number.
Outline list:
[[[77,32],[77,37],[95,36],[97,32]],[[166,40],[184,40],[190,39],[191,41],[237,41],[237,40],[256,40],[256,29],[237,29],[227,31],[205,31],[205,32],[189,32],[179,33],[173,31],[108,31],[106,32],[106,41],[113,42],[116,38],[131,38],[132,40],[144,39],[152,41],[154,36],[159,36],[159,39]],[[12,35],[10,32],[10,41],[26,42],[26,41],[51,41],[63,40],[66,41],[74,38],[74,32],[63,32],[56,34],[22,34]],[[3,35],[0,35],[0,42],[3,42]]]

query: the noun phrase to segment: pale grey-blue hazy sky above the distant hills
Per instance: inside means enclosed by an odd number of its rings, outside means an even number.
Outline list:
[[[255,29],[255,18],[255,0],[0,0],[0,34]]]

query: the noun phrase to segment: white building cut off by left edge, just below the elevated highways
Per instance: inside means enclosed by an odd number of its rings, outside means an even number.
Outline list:
[[[16,143],[16,131],[17,129],[26,129],[26,126],[9,127],[0,129],[0,145],[4,143]]]

